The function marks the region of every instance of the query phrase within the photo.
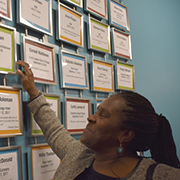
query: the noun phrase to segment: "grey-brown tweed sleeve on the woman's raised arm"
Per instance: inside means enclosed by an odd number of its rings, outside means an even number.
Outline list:
[[[80,142],[75,140],[61,124],[43,94],[29,102],[28,107],[46,137],[47,143],[61,160],[72,147],[76,148],[80,145]]]

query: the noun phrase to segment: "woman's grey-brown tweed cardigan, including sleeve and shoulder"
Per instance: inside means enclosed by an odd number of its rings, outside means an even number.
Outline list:
[[[47,143],[61,159],[54,180],[73,180],[85,168],[91,166],[94,160],[93,151],[66,131],[43,95],[35,98],[28,106],[41,127]],[[144,158],[128,180],[145,180],[146,171],[153,163],[153,160]],[[180,180],[180,169],[159,164],[154,171],[153,180]]]

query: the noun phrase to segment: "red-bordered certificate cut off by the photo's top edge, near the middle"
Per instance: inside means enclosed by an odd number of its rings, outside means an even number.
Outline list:
[[[106,0],[88,0],[87,3],[87,9],[96,13],[97,15],[106,18],[106,6],[107,2]]]

